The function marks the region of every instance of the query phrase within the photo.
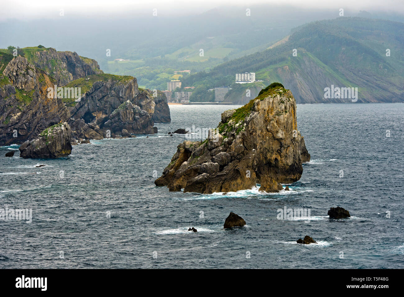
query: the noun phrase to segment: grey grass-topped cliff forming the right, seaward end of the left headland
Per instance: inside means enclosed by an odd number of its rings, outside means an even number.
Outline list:
[[[72,127],[76,126],[73,121],[83,119],[85,124],[101,129],[104,136],[108,130],[111,135],[120,135],[123,129],[132,134],[154,134],[155,122],[171,120],[164,93],[154,97],[149,90],[139,90],[131,76],[88,76],[67,86],[89,88],[79,102],[67,102],[75,103],[69,107]]]

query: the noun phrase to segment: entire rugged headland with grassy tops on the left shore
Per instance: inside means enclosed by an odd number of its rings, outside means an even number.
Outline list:
[[[75,139],[103,139],[107,130],[114,137],[122,129],[154,134],[155,122],[170,122],[164,93],[139,90],[136,78],[104,74],[95,60],[77,53],[43,46],[19,53],[25,56],[0,51],[0,145],[36,139],[61,122],[68,122]],[[48,98],[55,85],[80,88],[82,97]]]

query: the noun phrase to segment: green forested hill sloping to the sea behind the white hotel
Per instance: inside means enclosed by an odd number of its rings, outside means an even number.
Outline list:
[[[293,31],[286,42],[191,75],[183,86],[228,85],[235,73],[256,72],[257,80],[281,82],[297,103],[351,101],[325,98],[332,85],[357,87],[358,102],[404,101],[404,23],[340,17]]]

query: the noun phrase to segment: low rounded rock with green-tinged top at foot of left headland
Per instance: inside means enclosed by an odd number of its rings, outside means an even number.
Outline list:
[[[70,143],[72,131],[64,122],[46,128],[38,139],[25,141],[20,147],[20,157],[34,159],[56,159],[72,153]]]

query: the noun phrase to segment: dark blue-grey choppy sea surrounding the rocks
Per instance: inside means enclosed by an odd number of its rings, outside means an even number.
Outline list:
[[[185,139],[167,132],[216,127],[229,108],[170,105],[157,135],[91,141],[59,160],[0,147],[0,209],[32,209],[32,223],[0,220],[0,267],[404,268],[404,104],[298,105],[311,161],[290,192],[156,187]],[[330,220],[337,205],[351,218]],[[310,209],[311,221],[277,219],[284,206]],[[247,225],[223,230],[230,211]],[[318,244],[295,242],[305,235]]]

